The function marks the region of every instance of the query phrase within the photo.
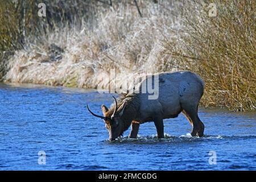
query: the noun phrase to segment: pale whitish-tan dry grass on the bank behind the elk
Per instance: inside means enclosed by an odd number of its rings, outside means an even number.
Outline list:
[[[177,13],[147,1],[140,5],[143,18],[135,6],[122,2],[115,11],[99,10],[93,28],[86,24],[56,28],[40,36],[40,41],[28,42],[26,49],[9,60],[6,81],[97,88],[98,84],[109,84],[101,73],[109,74],[110,69],[126,75],[170,71],[172,57],[164,53],[159,28],[167,32],[170,27],[179,27],[179,21],[168,17],[167,11]]]

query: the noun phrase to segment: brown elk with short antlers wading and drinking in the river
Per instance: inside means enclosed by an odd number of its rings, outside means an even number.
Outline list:
[[[156,75],[156,74],[155,74]],[[130,138],[137,138],[139,126],[144,122],[154,122],[158,138],[164,138],[163,119],[176,118],[181,112],[192,125],[191,135],[203,137],[204,124],[197,109],[204,92],[204,81],[195,73],[163,72],[159,77],[159,97],[148,100],[147,93],[125,93],[114,97],[110,109],[101,106],[102,115],[89,112],[95,117],[104,119],[109,131],[109,140],[115,140],[131,126]],[[144,81],[147,81],[145,78]]]

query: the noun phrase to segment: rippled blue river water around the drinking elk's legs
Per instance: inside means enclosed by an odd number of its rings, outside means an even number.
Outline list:
[[[101,114],[113,102],[96,90],[0,84],[1,170],[255,170],[256,113],[200,108],[203,138],[180,114],[164,122],[165,139],[144,123],[138,139],[109,142]],[[45,157],[44,154],[45,152]]]

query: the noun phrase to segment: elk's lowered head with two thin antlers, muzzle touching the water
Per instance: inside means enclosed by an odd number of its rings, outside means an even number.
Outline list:
[[[125,110],[126,102],[123,102],[121,106],[117,106],[117,100],[115,100],[115,106],[112,109],[108,109],[105,105],[101,105],[103,116],[94,114],[88,107],[88,111],[95,117],[104,119],[105,127],[109,131],[109,140],[115,140],[123,133],[123,121],[121,119],[123,111]]]

